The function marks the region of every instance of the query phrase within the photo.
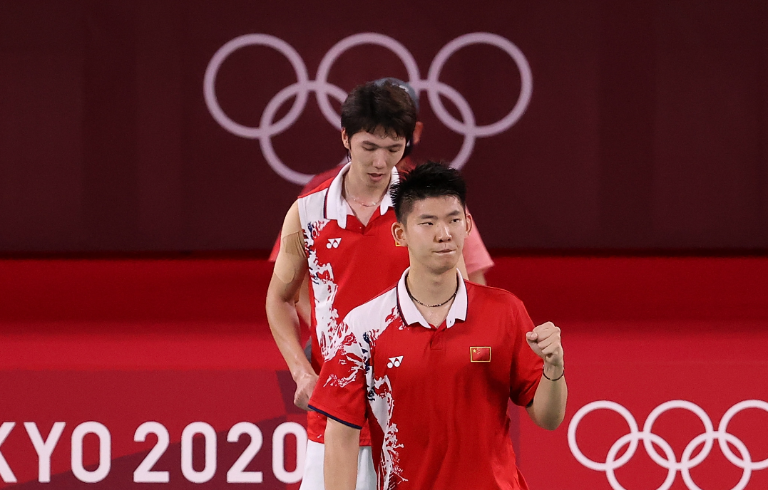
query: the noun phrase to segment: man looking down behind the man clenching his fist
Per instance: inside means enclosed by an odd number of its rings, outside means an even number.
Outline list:
[[[283,222],[280,253],[266,295],[273,337],[296,381],[294,403],[306,409],[323,363],[339,347],[341,319],[389,288],[408,265],[406,248],[392,239],[396,221],[389,186],[412,138],[411,98],[392,84],[356,87],[342,105],[342,142],[350,162],[333,179],[300,196]],[[463,265],[462,265],[463,267]],[[294,298],[310,278],[311,363],[300,345]],[[306,464],[301,488],[323,488],[326,419],[307,416]],[[368,432],[359,438],[357,488],[375,488]]]

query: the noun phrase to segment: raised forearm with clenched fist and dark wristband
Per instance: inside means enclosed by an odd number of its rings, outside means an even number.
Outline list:
[[[526,407],[528,416],[537,426],[554,430],[565,417],[565,402],[568,400],[568,386],[565,378],[561,377],[565,368],[560,329],[548,321],[528,332],[526,340],[531,349],[544,359],[544,373],[547,375],[541,377],[533,404]]]

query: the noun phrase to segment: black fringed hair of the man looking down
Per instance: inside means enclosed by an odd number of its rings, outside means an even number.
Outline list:
[[[417,117],[411,96],[391,81],[358,85],[341,106],[341,126],[350,138],[381,128],[389,136],[411,140]]]

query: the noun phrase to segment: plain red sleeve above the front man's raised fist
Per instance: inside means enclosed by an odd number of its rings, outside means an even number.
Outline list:
[[[525,306],[517,298],[512,304],[512,314],[515,319],[512,331],[514,350],[509,373],[509,397],[515,405],[528,406],[541,382],[544,360],[536,355],[528,345],[528,340],[525,340],[525,334],[533,330],[534,324]]]

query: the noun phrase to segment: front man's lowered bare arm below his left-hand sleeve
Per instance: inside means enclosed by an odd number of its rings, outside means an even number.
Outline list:
[[[360,431],[328,419],[326,457],[323,463],[326,488],[355,490]]]

